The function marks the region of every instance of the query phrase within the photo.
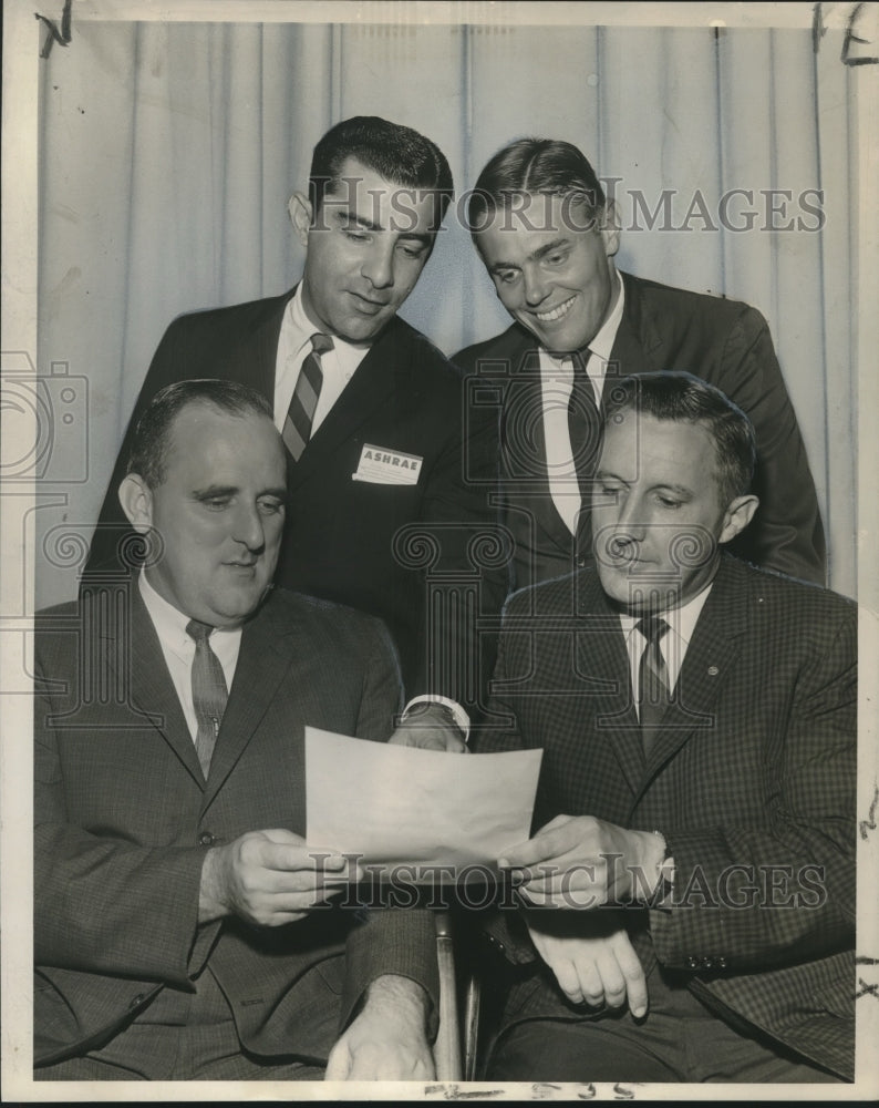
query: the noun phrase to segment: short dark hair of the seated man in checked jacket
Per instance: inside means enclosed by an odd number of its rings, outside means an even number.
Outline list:
[[[724,506],[751,489],[757,449],[747,416],[713,384],[692,373],[639,373],[609,382],[604,423],[622,411],[705,428],[717,459],[715,476]]]

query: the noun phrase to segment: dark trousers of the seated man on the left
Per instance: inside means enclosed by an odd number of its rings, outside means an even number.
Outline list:
[[[209,970],[197,988],[162,989],[105,1046],[34,1069],[34,1080],[323,1080],[322,1066],[244,1051],[228,1002]]]

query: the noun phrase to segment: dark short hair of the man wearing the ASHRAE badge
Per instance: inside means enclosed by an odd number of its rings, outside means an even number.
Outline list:
[[[308,183],[312,218],[317,218],[324,195],[339,192],[342,165],[349,157],[385,181],[432,192],[436,203],[434,230],[439,228],[455,188],[445,154],[412,127],[378,115],[355,115],[337,123],[314,147]]]

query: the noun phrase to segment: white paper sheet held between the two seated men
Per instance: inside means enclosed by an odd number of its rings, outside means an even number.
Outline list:
[[[382,870],[493,866],[528,838],[541,758],[444,753],[307,727],[306,838]]]

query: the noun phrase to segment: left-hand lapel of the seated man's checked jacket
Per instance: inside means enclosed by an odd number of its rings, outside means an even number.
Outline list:
[[[611,747],[635,794],[644,777],[644,755],[620,617],[608,604],[598,573],[579,574],[576,579],[583,583],[577,602],[582,620],[577,642],[578,667],[596,683],[594,697],[590,698],[594,733]]]

